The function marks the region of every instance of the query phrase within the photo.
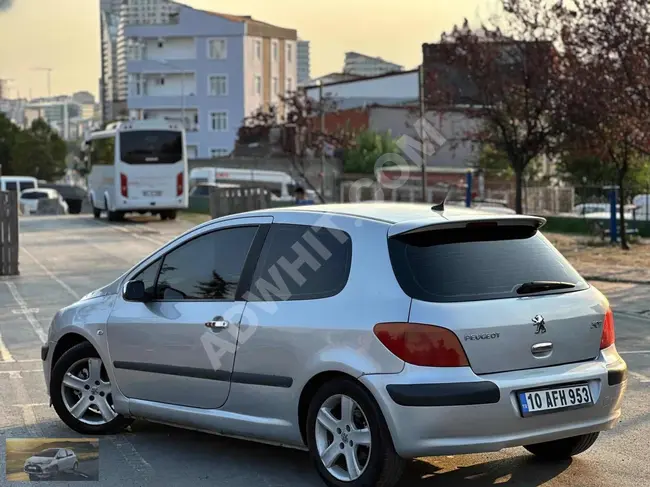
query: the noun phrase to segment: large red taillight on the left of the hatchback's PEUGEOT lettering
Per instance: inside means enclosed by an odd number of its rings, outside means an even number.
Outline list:
[[[419,323],[377,323],[374,332],[394,355],[425,367],[467,367],[458,337],[450,330]]]

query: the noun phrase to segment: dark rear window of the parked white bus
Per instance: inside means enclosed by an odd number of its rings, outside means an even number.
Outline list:
[[[120,134],[120,159],[127,164],[173,164],[183,158],[183,137],[172,130]]]

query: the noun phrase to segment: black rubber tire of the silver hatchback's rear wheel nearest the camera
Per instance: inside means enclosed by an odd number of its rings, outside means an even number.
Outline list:
[[[349,441],[348,443],[348,440],[355,436],[352,436],[354,432],[349,433],[350,436],[347,436],[345,433],[347,428],[341,430],[340,437],[334,436],[338,435],[338,430],[332,432],[331,429],[327,428],[329,432],[326,434],[327,439],[324,440],[325,437],[322,433],[325,430],[319,422],[318,428],[320,429],[320,432],[317,432],[317,416],[319,411],[322,407],[327,408],[328,404],[335,404],[336,401],[338,401],[338,396],[347,396],[347,398],[351,399],[356,403],[356,406],[358,406],[358,408],[355,407],[355,414],[353,415],[353,418],[355,419],[353,420],[353,423],[356,423],[356,420],[365,416],[363,424],[365,425],[364,427],[370,431],[369,450],[366,447],[363,447],[364,450],[359,452],[359,449],[362,448],[359,445],[355,447],[356,450],[352,448],[348,449],[348,445],[352,445],[353,443],[352,441]],[[358,414],[359,410],[362,414]],[[334,411],[334,409],[332,411]],[[332,416],[335,416],[334,412],[332,412]],[[338,417],[341,419],[343,418],[342,415],[340,415],[340,412]],[[343,423],[345,422],[341,423],[342,427]],[[353,426],[359,428],[359,423],[353,424]],[[397,485],[402,476],[406,460],[401,458],[395,452],[393,440],[381,409],[372,395],[352,379],[335,379],[324,384],[316,392],[309,404],[306,432],[309,456],[325,484],[330,487],[393,487]],[[321,451],[323,451],[323,445],[330,443],[330,437],[332,437],[333,440],[331,442],[332,446],[338,447],[337,442],[340,442],[340,445],[345,445],[344,452],[346,454],[350,450],[357,451],[356,456],[359,458],[359,465],[362,463],[361,458],[365,460],[363,461],[361,474],[358,477],[352,480],[351,477],[344,479],[339,476],[339,478],[337,478],[337,476],[333,475],[325,466],[319,453],[319,444],[321,445]],[[369,454],[364,455],[364,451],[369,451]],[[339,454],[336,458],[337,460],[334,462],[334,466],[336,466],[338,462],[347,465],[343,454]]]

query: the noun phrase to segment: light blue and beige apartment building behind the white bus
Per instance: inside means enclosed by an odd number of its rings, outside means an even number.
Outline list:
[[[174,5],[126,15],[129,115],[182,121],[190,158],[227,155],[245,116],[295,90],[297,33]]]

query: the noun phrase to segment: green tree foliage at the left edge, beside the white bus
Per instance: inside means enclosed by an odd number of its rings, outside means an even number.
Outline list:
[[[3,175],[52,181],[65,172],[66,143],[44,120],[22,130],[0,114],[0,164]]]

